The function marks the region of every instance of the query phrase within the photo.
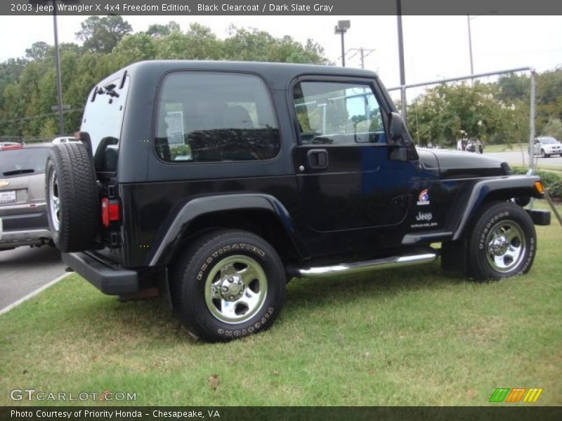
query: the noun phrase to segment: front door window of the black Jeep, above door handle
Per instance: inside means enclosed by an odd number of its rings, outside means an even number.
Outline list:
[[[301,82],[293,98],[303,144],[386,142],[379,102],[369,85]]]

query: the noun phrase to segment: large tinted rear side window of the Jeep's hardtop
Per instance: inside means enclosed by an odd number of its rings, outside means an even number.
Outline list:
[[[280,133],[265,84],[248,74],[169,74],[159,96],[155,146],[170,162],[274,158]]]

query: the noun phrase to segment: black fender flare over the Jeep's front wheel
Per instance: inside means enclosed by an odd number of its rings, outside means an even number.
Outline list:
[[[447,230],[452,232],[452,241],[458,240],[464,229],[482,203],[490,196],[498,200],[509,200],[518,196],[540,199],[543,195],[537,191],[537,176],[511,175],[504,178],[491,178],[477,181],[471,189],[460,194],[450,210]]]

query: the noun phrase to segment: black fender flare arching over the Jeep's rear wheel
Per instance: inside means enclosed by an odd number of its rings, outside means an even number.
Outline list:
[[[280,220],[289,239],[299,254],[303,247],[297,240],[294,225],[289,212],[280,201],[269,194],[223,194],[187,199],[171,209],[166,220],[155,236],[145,263],[148,266],[166,265],[174,254],[176,247],[188,231],[190,222],[205,214],[225,210],[266,210]]]

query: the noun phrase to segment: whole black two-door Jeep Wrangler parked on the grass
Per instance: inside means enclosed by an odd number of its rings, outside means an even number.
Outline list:
[[[523,274],[550,218],[519,206],[539,178],[416,149],[359,69],[138,62],[93,88],[78,137],[46,169],[63,260],[106,294],[164,288],[206,340],[270,326],[294,276],[439,254],[479,280]]]

